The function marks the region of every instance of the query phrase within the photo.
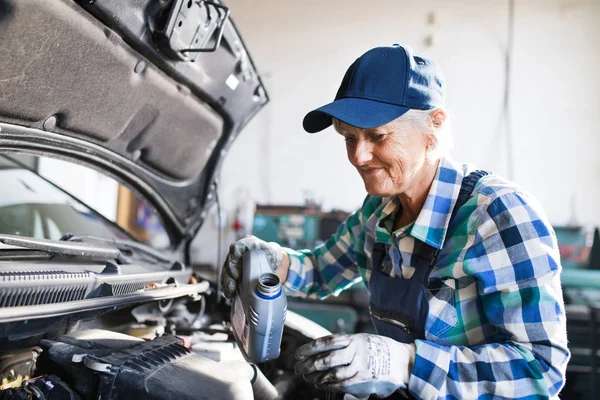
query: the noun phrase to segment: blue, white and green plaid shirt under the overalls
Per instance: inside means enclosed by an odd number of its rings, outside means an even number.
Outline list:
[[[570,357],[554,231],[535,199],[495,175],[478,182],[449,226],[468,170],[442,159],[408,226],[393,230],[396,197],[367,196],[323,245],[286,249],[287,292],[324,298],[359,281],[368,288],[367,234],[398,247],[387,273],[402,279],[414,272],[415,245],[427,243],[441,250],[429,277],[441,289],[429,294],[409,391],[422,399],[553,397]]]

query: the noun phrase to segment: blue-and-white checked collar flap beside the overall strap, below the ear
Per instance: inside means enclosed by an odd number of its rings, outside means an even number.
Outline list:
[[[411,236],[442,248],[465,172],[464,166],[454,164],[449,158],[440,160],[423,209],[410,230]]]

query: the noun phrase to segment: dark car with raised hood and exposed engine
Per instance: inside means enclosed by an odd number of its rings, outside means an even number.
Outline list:
[[[325,398],[293,352],[326,331],[288,312],[277,360],[236,362],[229,303],[191,268],[223,157],[268,101],[229,10],[4,0],[0,49],[0,399]],[[128,187],[167,248],[23,162],[41,156]]]

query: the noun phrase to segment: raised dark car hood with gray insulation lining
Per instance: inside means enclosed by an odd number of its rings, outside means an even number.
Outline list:
[[[216,51],[182,51],[212,47],[220,21]],[[101,170],[146,198],[176,245],[193,237],[223,156],[268,101],[224,21],[199,0],[0,1],[0,152]]]

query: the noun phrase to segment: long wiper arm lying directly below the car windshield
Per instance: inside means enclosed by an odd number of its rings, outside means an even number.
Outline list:
[[[121,263],[127,263],[118,248],[100,243],[65,243],[64,241],[5,234],[0,234],[0,243],[61,256],[75,256],[101,261],[117,260]]]

